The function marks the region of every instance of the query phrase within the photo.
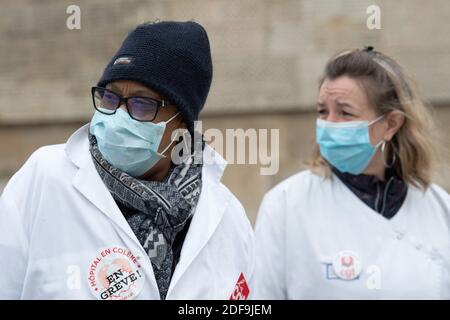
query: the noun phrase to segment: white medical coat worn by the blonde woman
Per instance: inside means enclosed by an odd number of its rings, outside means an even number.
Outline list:
[[[255,239],[254,298],[450,299],[450,196],[436,185],[410,186],[388,220],[336,176],[303,171],[265,195]],[[347,250],[362,264],[352,280],[333,267]]]

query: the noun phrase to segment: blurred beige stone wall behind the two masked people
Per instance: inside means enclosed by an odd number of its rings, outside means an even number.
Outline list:
[[[69,5],[81,29],[69,30]],[[367,7],[381,9],[369,30]],[[151,20],[192,20],[208,31],[214,79],[203,128],[280,130],[280,170],[230,165],[224,183],[254,222],[263,194],[302,169],[314,141],[318,79],[346,48],[373,45],[395,58],[433,106],[450,146],[448,0],[2,0],[0,192],[38,147],[64,143],[93,114],[90,87],[126,34]],[[450,191],[450,156],[435,182]]]

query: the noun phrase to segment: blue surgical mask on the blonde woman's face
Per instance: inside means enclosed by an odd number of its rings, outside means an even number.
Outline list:
[[[317,119],[316,141],[320,154],[340,172],[362,173],[384,141],[373,146],[369,136],[369,126],[381,118],[383,116],[372,122],[331,122]]]

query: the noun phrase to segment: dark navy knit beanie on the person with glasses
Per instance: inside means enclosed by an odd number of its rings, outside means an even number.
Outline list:
[[[212,80],[208,35],[198,23],[155,22],[136,27],[111,59],[97,86],[134,80],[175,104],[188,129],[205,104]]]

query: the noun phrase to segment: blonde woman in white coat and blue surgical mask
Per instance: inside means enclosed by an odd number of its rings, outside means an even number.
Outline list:
[[[262,202],[253,297],[449,299],[450,196],[400,66],[371,47],[338,54],[317,108],[309,170]]]

